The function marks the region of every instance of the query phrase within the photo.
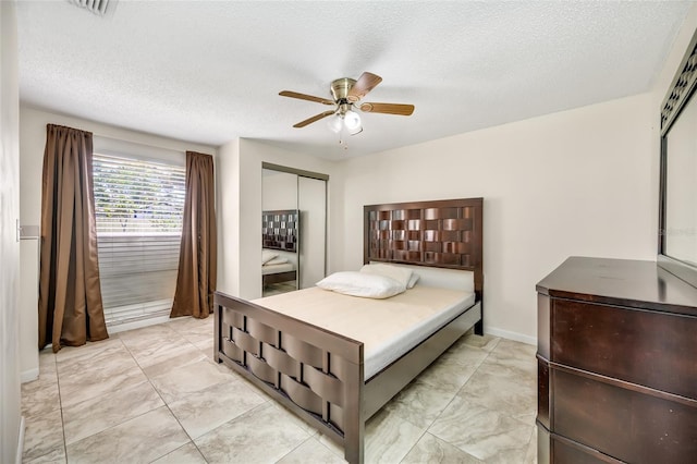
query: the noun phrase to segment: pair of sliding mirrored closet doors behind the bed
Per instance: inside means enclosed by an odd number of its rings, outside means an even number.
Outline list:
[[[262,164],[262,296],[314,286],[325,277],[328,179]]]

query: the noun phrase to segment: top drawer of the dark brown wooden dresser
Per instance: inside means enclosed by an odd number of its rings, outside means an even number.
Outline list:
[[[697,399],[697,318],[551,298],[550,361]]]

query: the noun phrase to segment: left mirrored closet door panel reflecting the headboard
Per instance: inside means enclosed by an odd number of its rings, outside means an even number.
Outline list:
[[[297,175],[270,169],[261,178],[262,295],[297,290]]]

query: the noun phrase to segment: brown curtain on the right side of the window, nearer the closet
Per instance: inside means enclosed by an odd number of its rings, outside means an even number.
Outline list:
[[[170,317],[208,317],[216,291],[213,157],[186,151],[186,200],[176,290]]]

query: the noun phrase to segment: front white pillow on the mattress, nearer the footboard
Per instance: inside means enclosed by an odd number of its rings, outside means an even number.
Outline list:
[[[357,271],[334,272],[317,282],[320,289],[364,298],[388,298],[406,290],[389,277]]]

